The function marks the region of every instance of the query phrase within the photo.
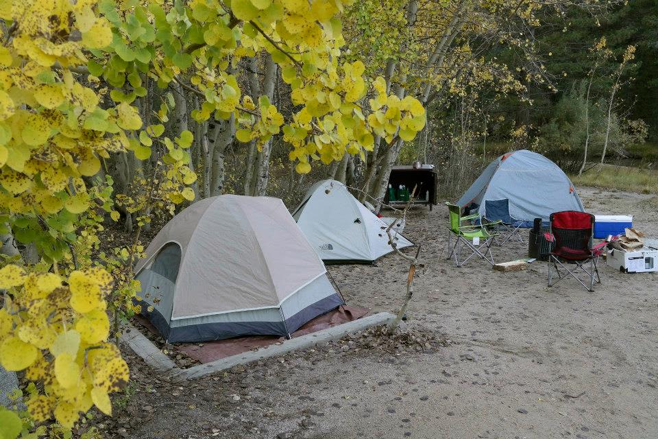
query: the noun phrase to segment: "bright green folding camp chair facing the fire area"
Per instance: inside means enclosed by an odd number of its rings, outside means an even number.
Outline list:
[[[480,215],[475,214],[463,217],[461,216],[461,207],[449,202],[446,202],[446,206],[448,206],[448,210],[450,211],[450,230],[448,230],[448,249],[450,250],[450,254],[448,254],[446,259],[452,259],[454,257],[457,267],[461,267],[466,261],[477,255],[493,266],[491,244],[496,233],[487,230],[482,225],[462,224],[471,219],[480,219]],[[452,244],[452,235],[454,235],[454,244]],[[479,240],[480,244],[474,244],[476,240]],[[466,259],[460,261],[461,250],[464,246],[468,250],[471,250],[471,253]],[[482,252],[483,248],[487,250]]]

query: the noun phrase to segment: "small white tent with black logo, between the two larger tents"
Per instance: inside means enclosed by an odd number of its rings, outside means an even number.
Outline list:
[[[371,263],[393,251],[386,233],[389,224],[336,180],[311,186],[293,218],[326,263]],[[392,235],[397,248],[413,246],[401,233],[393,230]]]

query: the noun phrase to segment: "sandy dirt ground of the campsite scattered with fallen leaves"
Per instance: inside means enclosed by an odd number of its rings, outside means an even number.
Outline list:
[[[631,213],[658,237],[652,195],[580,193],[588,211]],[[477,259],[455,268],[441,257],[447,215],[415,209],[407,221],[426,263],[403,328],[411,343],[371,348],[373,336],[354,336],[185,383],[126,351],[135,381],[99,429],[160,439],[658,437],[658,274],[601,263],[590,293],[572,280],[547,289],[539,261],[512,273]],[[508,242],[494,257],[526,252]],[[329,270],[352,305],[402,302],[400,257]]]

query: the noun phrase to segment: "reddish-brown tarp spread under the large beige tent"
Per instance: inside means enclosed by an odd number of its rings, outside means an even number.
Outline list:
[[[333,311],[329,311],[322,316],[309,320],[304,326],[292,333],[291,336],[293,338],[300,337],[300,335],[306,335],[320,331],[321,329],[335,327],[339,324],[362,318],[368,312],[369,309],[367,308],[341,305]],[[143,326],[147,327],[149,331],[157,334],[156,329],[148,320],[138,316],[138,321]],[[250,335],[248,337],[218,340],[217,342],[181,343],[176,344],[175,348],[185,355],[188,355],[188,357],[201,363],[210,363],[210,361],[232,357],[232,355],[238,355],[247,351],[253,351],[256,348],[263,348],[270,344],[282,342],[283,340],[284,337],[278,337],[276,335]]]

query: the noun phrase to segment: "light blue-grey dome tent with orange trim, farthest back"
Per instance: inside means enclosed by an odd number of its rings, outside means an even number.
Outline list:
[[[486,216],[485,200],[509,200],[509,214],[522,221],[548,221],[553,212],[583,212],[569,177],[548,158],[528,150],[508,152],[489,163],[483,173],[456,202],[465,208],[475,204]],[[473,213],[473,211],[472,211]]]

